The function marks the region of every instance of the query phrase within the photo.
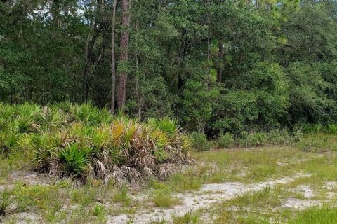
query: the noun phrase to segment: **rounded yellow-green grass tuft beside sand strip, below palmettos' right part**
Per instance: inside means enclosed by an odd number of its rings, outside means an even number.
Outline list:
[[[180,204],[178,197],[172,195],[169,188],[154,190],[152,195],[152,202],[158,207],[172,207],[173,205]]]

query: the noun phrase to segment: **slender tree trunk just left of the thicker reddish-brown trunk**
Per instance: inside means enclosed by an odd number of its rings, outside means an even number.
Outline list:
[[[115,23],[116,23],[116,5],[117,0],[114,0],[114,8],[112,12],[112,34],[111,34],[111,66],[112,66],[112,90],[111,90],[111,105],[110,105],[110,111],[111,113],[114,113],[114,99],[116,98],[115,92],[116,92],[116,61],[114,58],[114,29],[115,29]]]

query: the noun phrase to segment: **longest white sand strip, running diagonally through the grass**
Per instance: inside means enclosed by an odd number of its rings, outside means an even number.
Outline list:
[[[178,193],[175,196],[182,200],[180,205],[169,209],[152,208],[140,209],[132,216],[133,223],[145,224],[151,221],[171,220],[172,215],[183,216],[190,211],[210,207],[214,202],[230,200],[233,197],[248,193],[250,191],[262,190],[265,187],[272,187],[278,183],[289,183],[297,178],[310,176],[309,174],[294,174],[278,180],[270,180],[261,183],[244,184],[239,182],[211,183],[204,184],[201,190],[194,193]],[[125,224],[131,217],[126,214],[110,216],[107,223]]]

